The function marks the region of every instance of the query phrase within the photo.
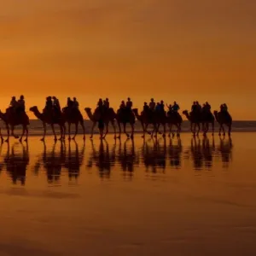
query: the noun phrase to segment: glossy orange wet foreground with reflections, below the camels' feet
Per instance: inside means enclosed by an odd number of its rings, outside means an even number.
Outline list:
[[[256,133],[97,137],[2,145],[0,255],[256,253]]]

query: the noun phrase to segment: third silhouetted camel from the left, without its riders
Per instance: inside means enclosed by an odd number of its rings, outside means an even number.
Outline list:
[[[83,139],[85,140],[85,128],[84,128],[84,118],[82,113],[80,113],[79,109],[74,109],[73,113],[70,113],[68,108],[62,108],[62,113],[63,113],[63,118],[66,120],[67,124],[68,124],[68,139],[70,140],[70,126],[71,124],[74,124],[76,127],[76,131],[75,134],[73,136],[73,139],[75,139],[75,137],[78,134],[78,130],[79,130],[79,124],[82,126],[83,128],[83,132],[84,132],[84,137]]]

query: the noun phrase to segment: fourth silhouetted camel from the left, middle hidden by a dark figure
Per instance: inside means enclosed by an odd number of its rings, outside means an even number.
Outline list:
[[[100,119],[100,113],[98,113],[97,110],[94,113],[91,113],[91,108],[84,108],[84,111],[87,113],[89,119],[93,123],[92,127],[91,127],[91,134],[90,134],[90,138],[92,138],[93,137],[93,131],[94,131],[94,128],[96,126],[96,123]],[[116,119],[116,118],[117,118],[116,113],[114,113],[113,108],[109,108],[108,113],[105,114],[104,117],[103,117],[104,124],[106,125],[106,132],[105,132],[105,135],[102,138],[105,138],[108,134],[108,124],[109,124],[109,122],[113,126],[114,138],[116,138],[116,129],[115,129],[115,125],[114,125],[114,119]]]

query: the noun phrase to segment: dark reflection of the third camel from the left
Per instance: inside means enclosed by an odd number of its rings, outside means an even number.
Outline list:
[[[78,179],[80,168],[83,165],[84,161],[84,150],[85,143],[83,143],[83,148],[79,151],[79,145],[74,141],[75,149],[72,150],[71,143],[68,143],[68,152],[67,157],[65,159],[64,167],[67,169],[69,180],[73,178],[75,180]]]

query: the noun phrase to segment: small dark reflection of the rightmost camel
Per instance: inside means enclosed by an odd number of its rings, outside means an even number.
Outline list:
[[[228,167],[230,160],[232,160],[232,149],[233,143],[231,137],[229,137],[228,139],[219,138],[218,153],[221,156],[224,167]]]

